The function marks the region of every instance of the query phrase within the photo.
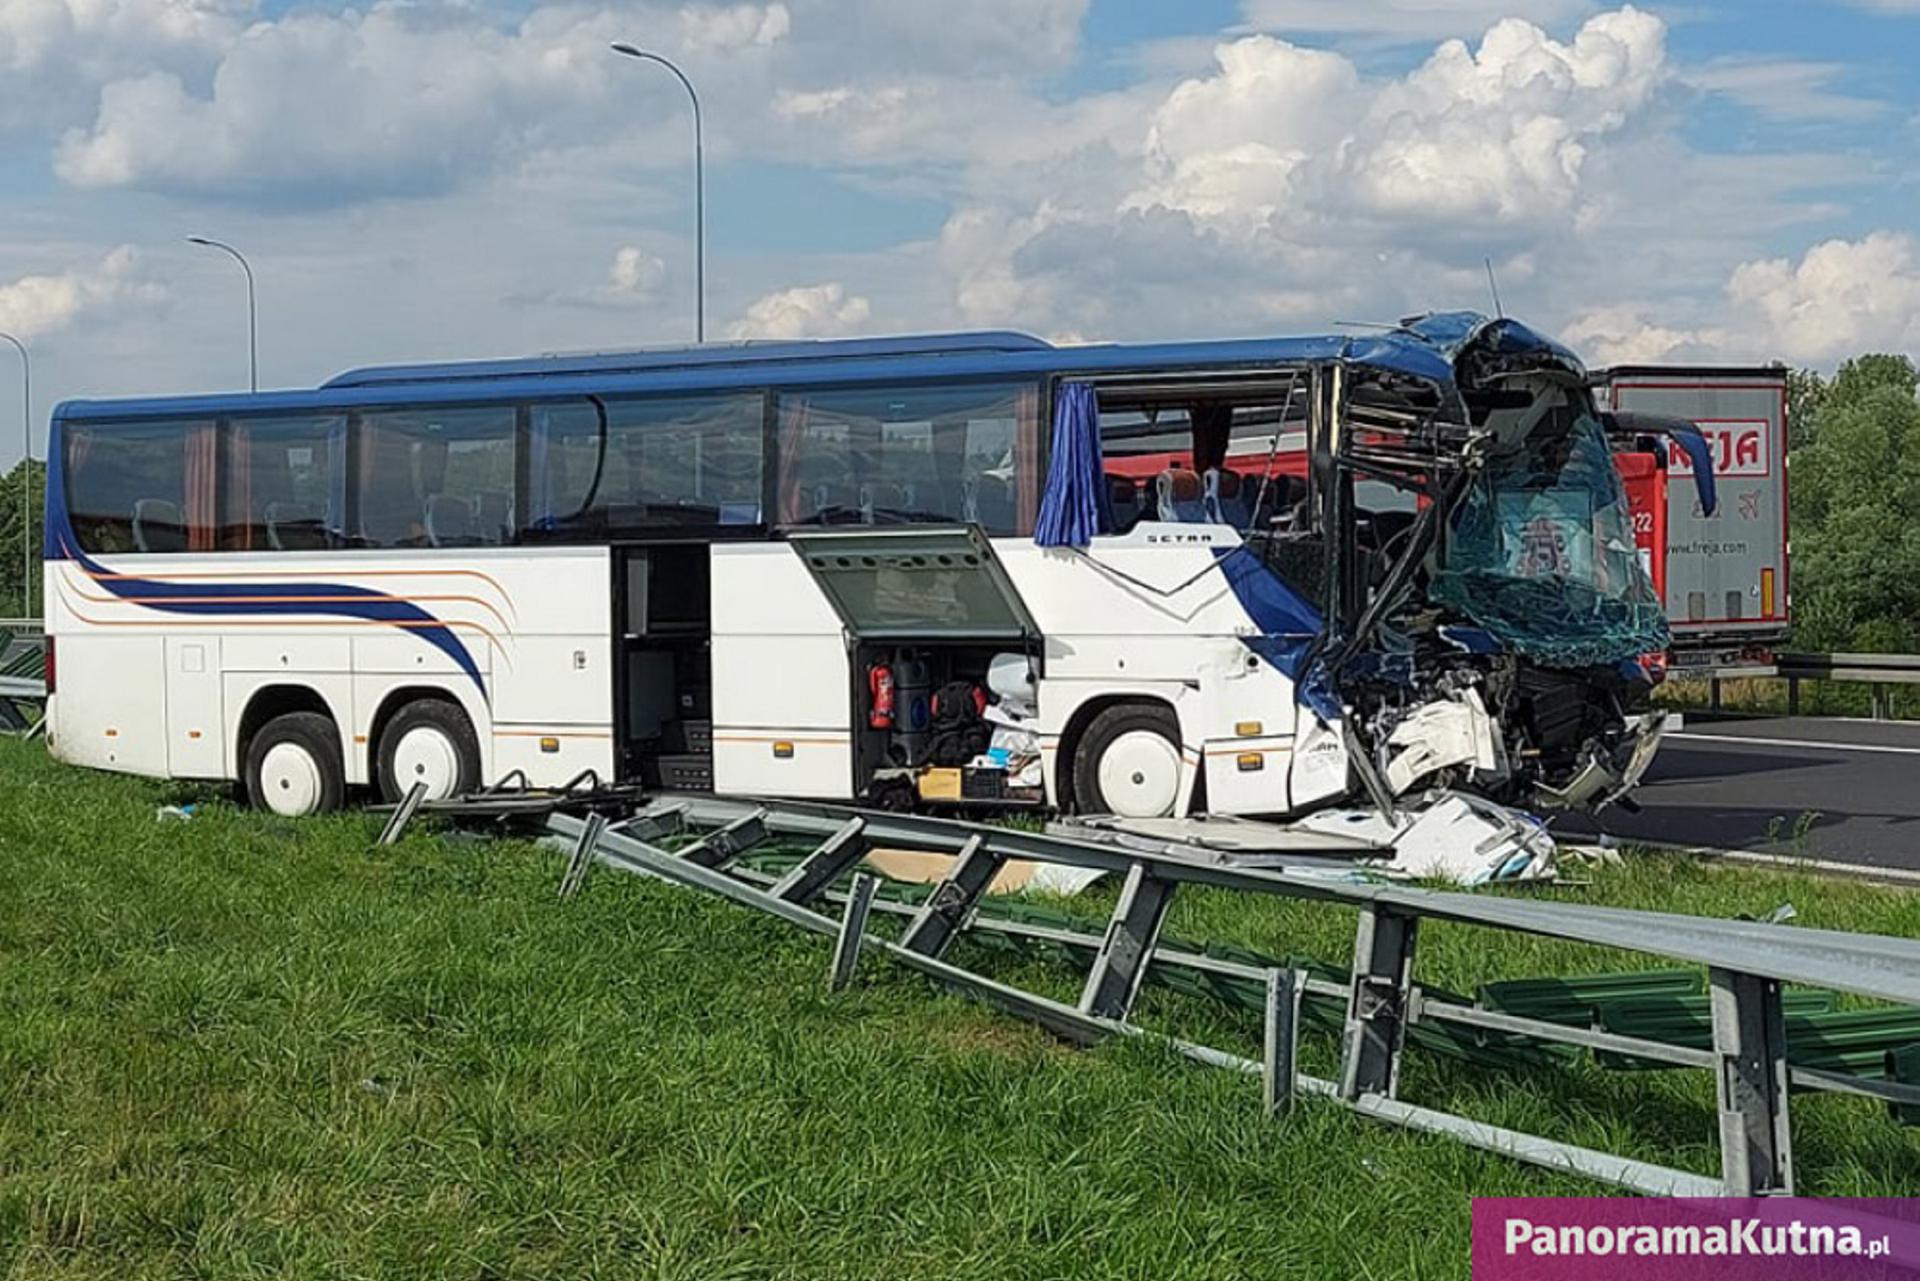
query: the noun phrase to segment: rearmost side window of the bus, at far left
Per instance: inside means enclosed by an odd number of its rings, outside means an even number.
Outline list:
[[[213,549],[213,423],[84,424],[63,436],[67,511],[83,551]]]

